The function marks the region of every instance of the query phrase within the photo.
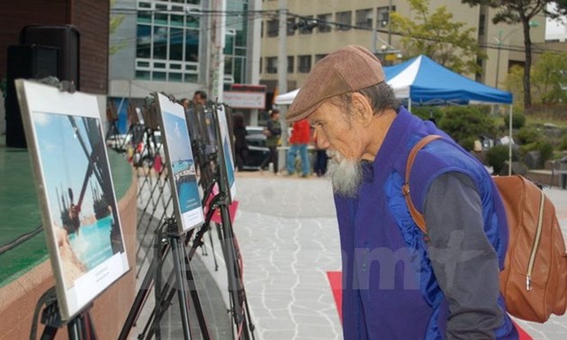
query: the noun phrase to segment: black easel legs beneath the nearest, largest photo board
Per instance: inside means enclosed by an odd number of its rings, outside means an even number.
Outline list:
[[[46,291],[35,309],[33,323],[31,325],[30,339],[35,340],[37,332],[37,314],[40,308],[45,305],[41,311],[41,323],[45,325],[41,340],[55,339],[59,328],[67,327],[67,336],[70,340],[96,340],[93,319],[89,313],[93,304],[89,304],[85,309],[81,310],[74,318],[67,321],[61,320],[59,313],[58,301],[55,298],[55,287]]]

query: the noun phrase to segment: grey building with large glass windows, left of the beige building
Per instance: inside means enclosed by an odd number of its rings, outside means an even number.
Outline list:
[[[109,97],[122,117],[120,130],[126,124],[128,104],[139,106],[154,91],[181,99],[191,98],[196,90],[211,94],[214,77],[227,86],[257,83],[259,70],[251,65],[259,51],[250,37],[260,28],[260,18],[253,14],[259,4],[257,0],[117,0],[111,19],[121,23],[110,35]],[[218,37],[223,33],[224,72],[219,74],[211,56],[219,52]]]

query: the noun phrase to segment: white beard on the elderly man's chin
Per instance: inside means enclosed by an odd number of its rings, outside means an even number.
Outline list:
[[[327,151],[331,157],[327,177],[333,183],[333,191],[342,196],[355,197],[362,180],[360,162],[346,159],[337,151]]]

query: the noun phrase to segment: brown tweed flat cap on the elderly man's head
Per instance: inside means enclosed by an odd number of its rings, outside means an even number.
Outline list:
[[[349,45],[320,59],[293,100],[286,121],[300,121],[326,99],[382,83],[384,72],[378,58],[362,46]]]

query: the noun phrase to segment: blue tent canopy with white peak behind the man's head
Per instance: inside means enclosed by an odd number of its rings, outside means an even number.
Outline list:
[[[509,92],[461,76],[424,55],[383,68],[396,97],[408,99],[409,106],[512,103]]]

